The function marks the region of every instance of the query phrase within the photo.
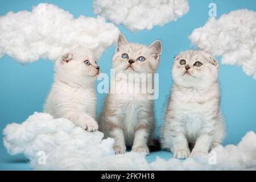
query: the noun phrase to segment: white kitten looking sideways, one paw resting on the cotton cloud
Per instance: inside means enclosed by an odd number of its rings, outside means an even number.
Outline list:
[[[44,112],[67,118],[87,131],[95,131],[96,93],[94,82],[100,73],[94,54],[77,48],[55,63],[54,81],[44,104]]]

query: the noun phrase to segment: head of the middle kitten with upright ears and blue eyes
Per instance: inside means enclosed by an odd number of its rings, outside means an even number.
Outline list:
[[[115,73],[154,73],[159,65],[161,51],[160,40],[150,46],[144,46],[129,43],[125,36],[120,34],[113,56]]]

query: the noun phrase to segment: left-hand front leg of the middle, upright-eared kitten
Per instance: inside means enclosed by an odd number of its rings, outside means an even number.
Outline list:
[[[125,135],[123,134],[123,130],[115,127],[111,131],[109,131],[110,137],[114,138],[114,152],[115,154],[125,154],[126,146],[125,146]]]

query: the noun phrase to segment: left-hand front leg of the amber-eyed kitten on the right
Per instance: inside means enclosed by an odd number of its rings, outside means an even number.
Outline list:
[[[182,122],[175,118],[167,121],[163,126],[163,140],[164,148],[168,148],[174,153],[174,158],[188,158],[190,150]]]

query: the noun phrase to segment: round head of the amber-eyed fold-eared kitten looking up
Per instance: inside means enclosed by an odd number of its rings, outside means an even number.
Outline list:
[[[185,51],[175,57],[172,77],[177,85],[204,88],[217,80],[218,61],[204,51]]]

